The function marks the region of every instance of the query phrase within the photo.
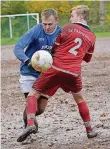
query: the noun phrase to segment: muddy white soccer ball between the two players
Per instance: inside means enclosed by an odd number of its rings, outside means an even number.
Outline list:
[[[39,50],[35,52],[31,58],[32,67],[39,72],[49,69],[52,63],[53,58],[51,54],[45,50]]]

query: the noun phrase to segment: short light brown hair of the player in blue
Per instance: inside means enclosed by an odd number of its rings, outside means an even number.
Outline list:
[[[58,13],[56,10],[52,9],[52,8],[48,8],[45,9],[42,13],[41,13],[41,18],[44,16],[45,18],[48,18],[49,16],[53,15],[55,17],[55,19],[58,19]]]

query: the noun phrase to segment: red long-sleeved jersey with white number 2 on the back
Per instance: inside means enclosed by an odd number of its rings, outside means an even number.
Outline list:
[[[53,46],[53,68],[78,76],[82,60],[89,62],[94,52],[95,35],[82,24],[66,24]]]

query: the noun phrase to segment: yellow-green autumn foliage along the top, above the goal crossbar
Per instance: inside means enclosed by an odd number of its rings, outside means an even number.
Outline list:
[[[92,25],[110,24],[110,1],[1,1],[1,14],[41,13],[46,8],[54,8],[60,16],[60,25],[69,22],[70,10],[76,5],[88,5],[89,23]]]

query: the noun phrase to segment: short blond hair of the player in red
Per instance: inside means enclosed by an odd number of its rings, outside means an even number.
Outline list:
[[[71,9],[71,12],[73,11],[73,10],[76,10],[76,13],[78,14],[78,15],[82,15],[83,16],[83,19],[84,20],[88,20],[88,18],[89,18],[89,7],[87,6],[87,5],[78,5],[78,6],[76,6],[76,7],[73,7],[72,9]]]

